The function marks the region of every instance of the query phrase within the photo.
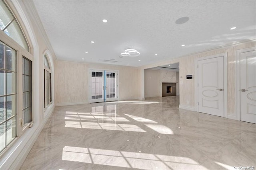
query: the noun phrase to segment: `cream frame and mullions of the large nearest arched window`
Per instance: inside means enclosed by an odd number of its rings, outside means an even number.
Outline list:
[[[26,34],[24,33],[24,30],[22,29],[22,24],[18,21],[20,18],[16,17],[16,13],[14,13],[10,9],[10,4],[8,2],[2,1],[4,4],[7,6],[8,10],[10,10],[11,14],[17,21],[19,28],[26,40],[26,43],[28,44],[28,49],[24,49],[20,44],[18,44],[14,39],[6,35],[4,31],[0,30],[0,41],[2,41],[4,44],[7,46],[11,47],[12,49],[17,51],[17,58],[16,58],[16,137],[1,151],[0,150],[0,156],[4,155],[8,150],[14,145],[14,143],[22,136],[22,134],[29,128],[31,127],[31,124],[33,124],[34,120],[34,95],[32,94],[32,121],[28,123],[24,128],[22,127],[22,106],[23,106],[23,96],[22,96],[22,58],[23,56],[32,61],[32,75],[33,75],[33,70],[34,70],[34,60],[33,60],[33,55],[32,49],[30,48],[30,41],[28,41],[27,37],[25,36]],[[10,6],[9,6],[10,5]],[[33,77],[32,77],[32,92],[34,91],[34,86],[33,86]]]

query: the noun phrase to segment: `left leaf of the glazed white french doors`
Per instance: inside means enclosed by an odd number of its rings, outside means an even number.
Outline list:
[[[90,103],[104,102],[104,71],[90,70]]]

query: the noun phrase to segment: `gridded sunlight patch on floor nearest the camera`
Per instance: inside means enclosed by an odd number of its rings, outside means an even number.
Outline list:
[[[194,169],[199,163],[181,156],[65,146],[62,160],[138,169]]]

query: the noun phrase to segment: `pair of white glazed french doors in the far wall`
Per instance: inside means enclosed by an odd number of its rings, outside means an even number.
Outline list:
[[[90,103],[118,100],[118,72],[90,70]]]

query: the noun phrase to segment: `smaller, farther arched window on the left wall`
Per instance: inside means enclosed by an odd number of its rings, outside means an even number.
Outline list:
[[[47,56],[44,55],[44,108],[52,102],[52,72]]]

